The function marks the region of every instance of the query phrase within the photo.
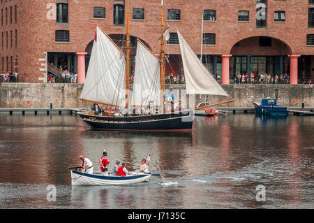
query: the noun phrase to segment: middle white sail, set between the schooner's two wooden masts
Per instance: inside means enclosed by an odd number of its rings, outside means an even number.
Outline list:
[[[159,60],[137,41],[133,94],[130,106],[158,106],[160,103]]]

